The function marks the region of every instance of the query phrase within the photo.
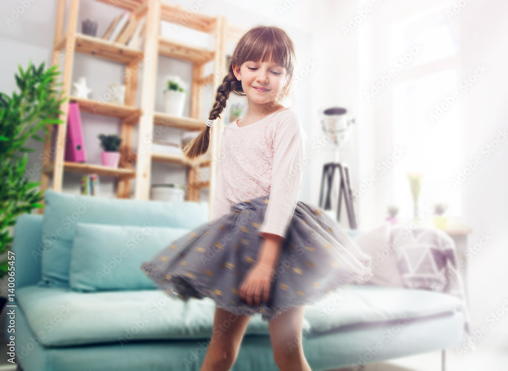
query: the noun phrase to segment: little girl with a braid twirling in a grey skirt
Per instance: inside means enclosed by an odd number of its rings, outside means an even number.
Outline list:
[[[294,110],[280,104],[294,65],[293,42],[280,28],[257,26],[242,36],[209,120],[184,149],[189,158],[205,153],[229,94],[247,96],[246,116],[221,133],[212,220],[141,266],[170,295],[215,301],[201,371],[233,366],[255,313],[268,321],[279,369],[310,370],[302,342],[294,344],[305,305],[372,276],[370,256],[323,210],[297,200],[306,134]]]

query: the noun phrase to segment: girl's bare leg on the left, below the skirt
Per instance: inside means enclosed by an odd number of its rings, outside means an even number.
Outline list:
[[[235,363],[250,317],[215,308],[213,332],[200,371],[228,371]]]

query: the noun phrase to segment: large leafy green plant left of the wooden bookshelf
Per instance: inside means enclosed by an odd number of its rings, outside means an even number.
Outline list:
[[[17,217],[43,207],[44,192],[35,190],[40,182],[30,182],[25,173],[27,152],[36,152],[25,142],[29,137],[44,141],[37,135],[40,129],[48,137],[47,125],[65,123],[58,116],[62,114],[60,105],[67,99],[58,92],[58,65],[45,69],[44,62],[36,67],[30,61],[25,71],[20,65],[18,70],[15,80],[19,93],[8,96],[0,92],[0,254],[8,255]],[[0,278],[14,273],[12,264],[9,258],[0,262]]]

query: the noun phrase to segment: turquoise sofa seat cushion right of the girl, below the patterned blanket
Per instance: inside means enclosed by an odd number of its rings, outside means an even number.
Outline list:
[[[313,331],[327,332],[346,325],[420,318],[461,311],[455,296],[429,290],[350,285],[305,308]]]

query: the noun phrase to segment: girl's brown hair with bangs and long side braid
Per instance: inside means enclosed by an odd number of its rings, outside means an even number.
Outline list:
[[[284,90],[275,99],[272,106],[275,106],[284,99],[291,90],[293,71],[295,64],[295,48],[293,42],[281,28],[275,26],[256,26],[248,30],[238,41],[235,51],[231,56],[228,73],[223,83],[217,88],[215,103],[210,111],[208,120],[215,120],[220,117],[226,107],[231,92],[245,96],[242,84],[236,79],[233,66],[240,66],[246,61],[274,60],[277,64],[284,66],[287,71],[288,80]],[[208,150],[210,144],[210,128],[204,125],[203,130],[197,137],[189,141],[183,148],[183,153],[188,158],[201,156]]]

